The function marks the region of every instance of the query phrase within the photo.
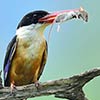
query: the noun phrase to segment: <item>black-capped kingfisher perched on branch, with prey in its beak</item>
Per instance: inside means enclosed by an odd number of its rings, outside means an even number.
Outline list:
[[[45,28],[55,21],[70,20],[81,16],[87,21],[87,14],[80,9],[53,13],[38,10],[26,14],[17,26],[16,34],[7,47],[4,59],[4,86],[22,86],[38,83],[48,56]],[[63,18],[66,13],[65,18]],[[57,17],[58,16],[58,17]]]

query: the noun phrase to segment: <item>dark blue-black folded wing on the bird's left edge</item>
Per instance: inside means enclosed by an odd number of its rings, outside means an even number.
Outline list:
[[[13,56],[16,51],[16,47],[17,47],[17,36],[14,36],[7,47],[7,51],[6,51],[6,55],[4,59],[3,71],[4,71],[4,85],[5,86],[10,86],[9,71],[11,68],[11,62],[12,62]]]

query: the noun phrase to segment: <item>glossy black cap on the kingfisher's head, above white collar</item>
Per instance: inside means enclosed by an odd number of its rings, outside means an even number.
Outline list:
[[[48,12],[42,10],[30,12],[22,18],[21,22],[18,24],[17,29],[22,26],[40,23],[38,22],[38,20],[48,14],[49,14]]]

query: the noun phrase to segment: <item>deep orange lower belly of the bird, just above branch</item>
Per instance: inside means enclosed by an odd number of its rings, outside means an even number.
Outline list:
[[[26,85],[37,81],[40,69],[40,59],[30,61],[28,64],[23,58],[15,58],[10,71],[10,82],[16,86]]]

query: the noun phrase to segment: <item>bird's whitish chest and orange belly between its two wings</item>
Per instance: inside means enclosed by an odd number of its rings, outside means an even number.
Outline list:
[[[25,85],[37,81],[46,44],[43,35],[28,34],[18,37],[18,45],[11,67],[11,82]]]

